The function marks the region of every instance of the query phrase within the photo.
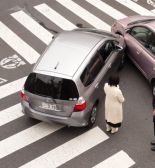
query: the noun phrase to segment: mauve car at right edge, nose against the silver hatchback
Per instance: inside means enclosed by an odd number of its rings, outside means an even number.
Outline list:
[[[111,28],[124,36],[127,55],[155,85],[155,16],[130,16],[117,20]]]

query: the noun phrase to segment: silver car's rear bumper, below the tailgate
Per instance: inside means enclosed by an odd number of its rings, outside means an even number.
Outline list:
[[[45,121],[45,122],[59,122],[68,126],[83,127],[88,125],[88,114],[85,111],[73,112],[70,117],[50,115],[32,109],[27,102],[21,103],[22,112],[29,117]]]

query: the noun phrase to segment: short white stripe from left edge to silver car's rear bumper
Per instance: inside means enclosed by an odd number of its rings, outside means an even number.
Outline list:
[[[22,117],[23,115],[20,103],[0,111],[0,126]]]

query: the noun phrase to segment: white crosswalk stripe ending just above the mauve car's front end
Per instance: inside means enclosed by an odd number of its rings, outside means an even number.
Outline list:
[[[113,8],[112,6],[106,4],[101,0],[86,0],[86,1],[116,20],[127,17],[122,12],[116,10],[115,8]]]

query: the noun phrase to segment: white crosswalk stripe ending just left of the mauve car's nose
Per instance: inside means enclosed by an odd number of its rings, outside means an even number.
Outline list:
[[[71,12],[94,26],[95,28],[98,29],[103,29],[103,30],[111,30],[110,25],[93,15],[92,13],[88,12],[86,9],[82,8],[72,0],[56,0],[59,2],[61,5],[69,9]]]

